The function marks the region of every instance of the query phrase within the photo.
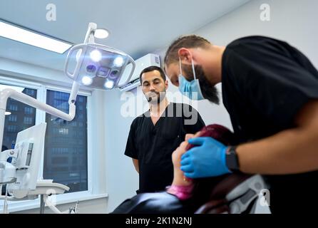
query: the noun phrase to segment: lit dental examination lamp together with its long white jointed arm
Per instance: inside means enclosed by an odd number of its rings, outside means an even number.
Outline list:
[[[46,113],[63,120],[71,121],[75,117],[75,102],[79,86],[111,90],[113,88],[125,86],[125,84],[130,81],[133,71],[135,70],[135,61],[133,61],[133,58],[115,48],[95,43],[94,35],[96,31],[98,31],[96,24],[88,24],[88,31],[86,33],[84,43],[73,46],[70,51],[68,51],[64,72],[66,76],[73,80],[70,97],[68,99],[68,113],[64,113],[63,111],[53,108],[46,103],[41,103],[39,100],[31,98],[29,95],[19,93],[11,88],[6,88],[0,91],[0,145],[2,145],[4,136],[6,102],[9,98],[43,110]],[[131,68],[129,67],[126,69],[126,66],[129,63],[131,63]],[[72,69],[73,71],[71,71]],[[123,76],[127,77],[123,78]],[[121,79],[125,80],[121,82]],[[0,186],[2,184],[16,182],[16,167],[7,162],[6,159],[7,157],[16,158],[19,156],[19,151],[15,148],[14,150],[6,150],[5,152],[6,156],[4,156],[4,153],[1,154],[0,152]],[[40,166],[40,164],[38,165]],[[32,190],[34,189],[30,189],[30,191]],[[25,197],[25,195],[19,196],[19,198],[22,197]],[[49,202],[46,202],[46,204],[49,206]],[[58,212],[54,210],[54,208],[51,209]]]

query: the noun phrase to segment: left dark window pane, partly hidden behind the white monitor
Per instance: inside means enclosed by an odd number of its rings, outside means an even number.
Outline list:
[[[36,90],[31,88],[21,88],[20,91],[27,95],[30,95],[32,98],[36,98]],[[36,113],[30,113],[28,118],[24,113],[25,108],[31,108],[29,105],[21,103],[17,100],[9,98],[6,103],[6,110],[10,111],[10,115],[6,115],[4,121],[4,138],[2,142],[2,149],[11,148],[12,143],[16,141],[16,135],[26,128],[30,128],[32,125],[35,125]]]

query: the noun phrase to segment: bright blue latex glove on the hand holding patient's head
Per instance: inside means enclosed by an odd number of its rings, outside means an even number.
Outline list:
[[[198,145],[181,157],[180,169],[185,177],[215,177],[230,173],[225,161],[227,147],[210,137],[191,138],[190,144]]]

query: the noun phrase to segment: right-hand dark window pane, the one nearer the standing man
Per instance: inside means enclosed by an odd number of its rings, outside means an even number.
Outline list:
[[[69,93],[47,90],[46,103],[68,112]],[[70,187],[68,192],[88,190],[87,97],[78,95],[71,122],[46,113],[43,178]],[[82,127],[80,127],[82,126]]]

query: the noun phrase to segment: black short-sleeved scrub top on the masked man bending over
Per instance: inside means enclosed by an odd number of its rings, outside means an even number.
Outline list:
[[[222,57],[222,98],[238,143],[267,138],[294,128],[297,112],[318,98],[318,71],[284,41],[240,38]],[[317,171],[269,175],[267,181],[273,213],[304,212],[305,205],[318,204]]]

